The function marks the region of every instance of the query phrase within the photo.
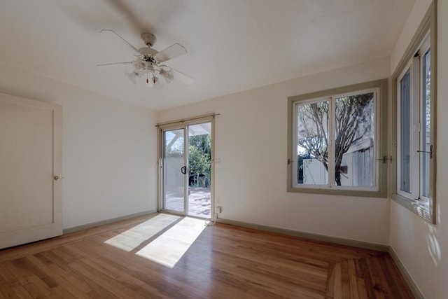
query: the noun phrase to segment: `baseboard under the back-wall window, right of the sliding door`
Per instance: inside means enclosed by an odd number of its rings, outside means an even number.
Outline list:
[[[330,242],[330,243],[334,243],[334,244],[360,247],[360,248],[364,248],[364,249],[372,249],[372,250],[383,251],[383,252],[388,252],[388,250],[389,250],[388,245],[356,241],[356,240],[352,240],[352,239],[343,239],[343,238],[338,238],[338,237],[330,237],[330,236],[325,236],[325,235],[312,234],[309,232],[300,232],[298,230],[275,228],[273,226],[246,223],[246,222],[242,222],[242,221],[235,221],[235,220],[222,219],[222,218],[218,218],[217,222],[230,224],[230,225],[236,225],[236,226],[242,226],[243,228],[253,228],[255,230],[264,230],[266,232],[276,232],[276,233],[283,234],[283,235],[291,235],[291,236],[302,237],[302,238],[306,238],[306,239],[314,239],[317,241]]]

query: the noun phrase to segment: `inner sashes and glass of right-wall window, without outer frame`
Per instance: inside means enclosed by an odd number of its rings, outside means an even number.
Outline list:
[[[398,194],[428,202],[430,146],[429,36],[398,77]]]

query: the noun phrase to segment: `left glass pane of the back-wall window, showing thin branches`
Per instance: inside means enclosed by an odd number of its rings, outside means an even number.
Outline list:
[[[297,184],[328,184],[328,101],[296,104]]]

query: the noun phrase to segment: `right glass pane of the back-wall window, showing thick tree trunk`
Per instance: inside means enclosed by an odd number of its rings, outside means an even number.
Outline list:
[[[335,101],[335,184],[373,187],[374,93]]]

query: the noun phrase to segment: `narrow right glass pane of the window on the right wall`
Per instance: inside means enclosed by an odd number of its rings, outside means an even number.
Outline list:
[[[429,159],[430,159],[430,120],[431,120],[431,97],[430,97],[430,50],[423,55],[423,95],[421,97],[421,118],[423,130],[421,130],[421,195],[429,197]],[[427,152],[427,153],[424,153]]]

